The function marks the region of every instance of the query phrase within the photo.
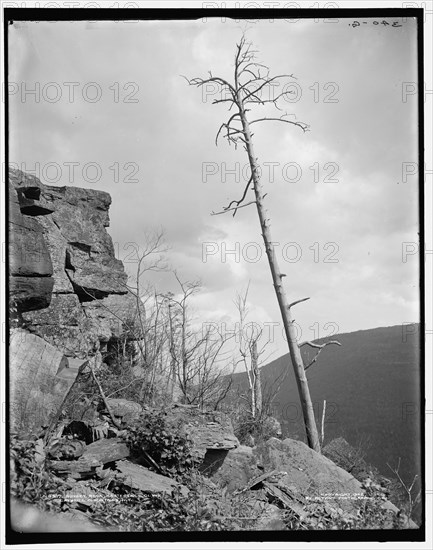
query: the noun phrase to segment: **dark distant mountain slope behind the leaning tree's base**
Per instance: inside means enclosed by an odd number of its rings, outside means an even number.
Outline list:
[[[399,457],[407,478],[420,474],[424,366],[420,364],[419,330],[419,324],[409,330],[397,325],[321,338],[317,342],[338,340],[342,345],[326,347],[307,371],[319,430],[324,399],[327,402],[325,444],[339,436],[354,446],[361,443],[366,460],[388,476],[387,462],[395,466]],[[302,348],[305,363],[315,351],[307,348]],[[305,440],[289,354],[262,367],[262,383],[269,391],[286,369],[273,412],[284,435]],[[237,374],[235,385],[245,384],[245,373]]]

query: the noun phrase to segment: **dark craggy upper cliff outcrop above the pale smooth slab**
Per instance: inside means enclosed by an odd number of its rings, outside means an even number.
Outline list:
[[[115,258],[108,193],[9,172],[10,288],[32,333],[70,357],[119,338],[135,310]]]

